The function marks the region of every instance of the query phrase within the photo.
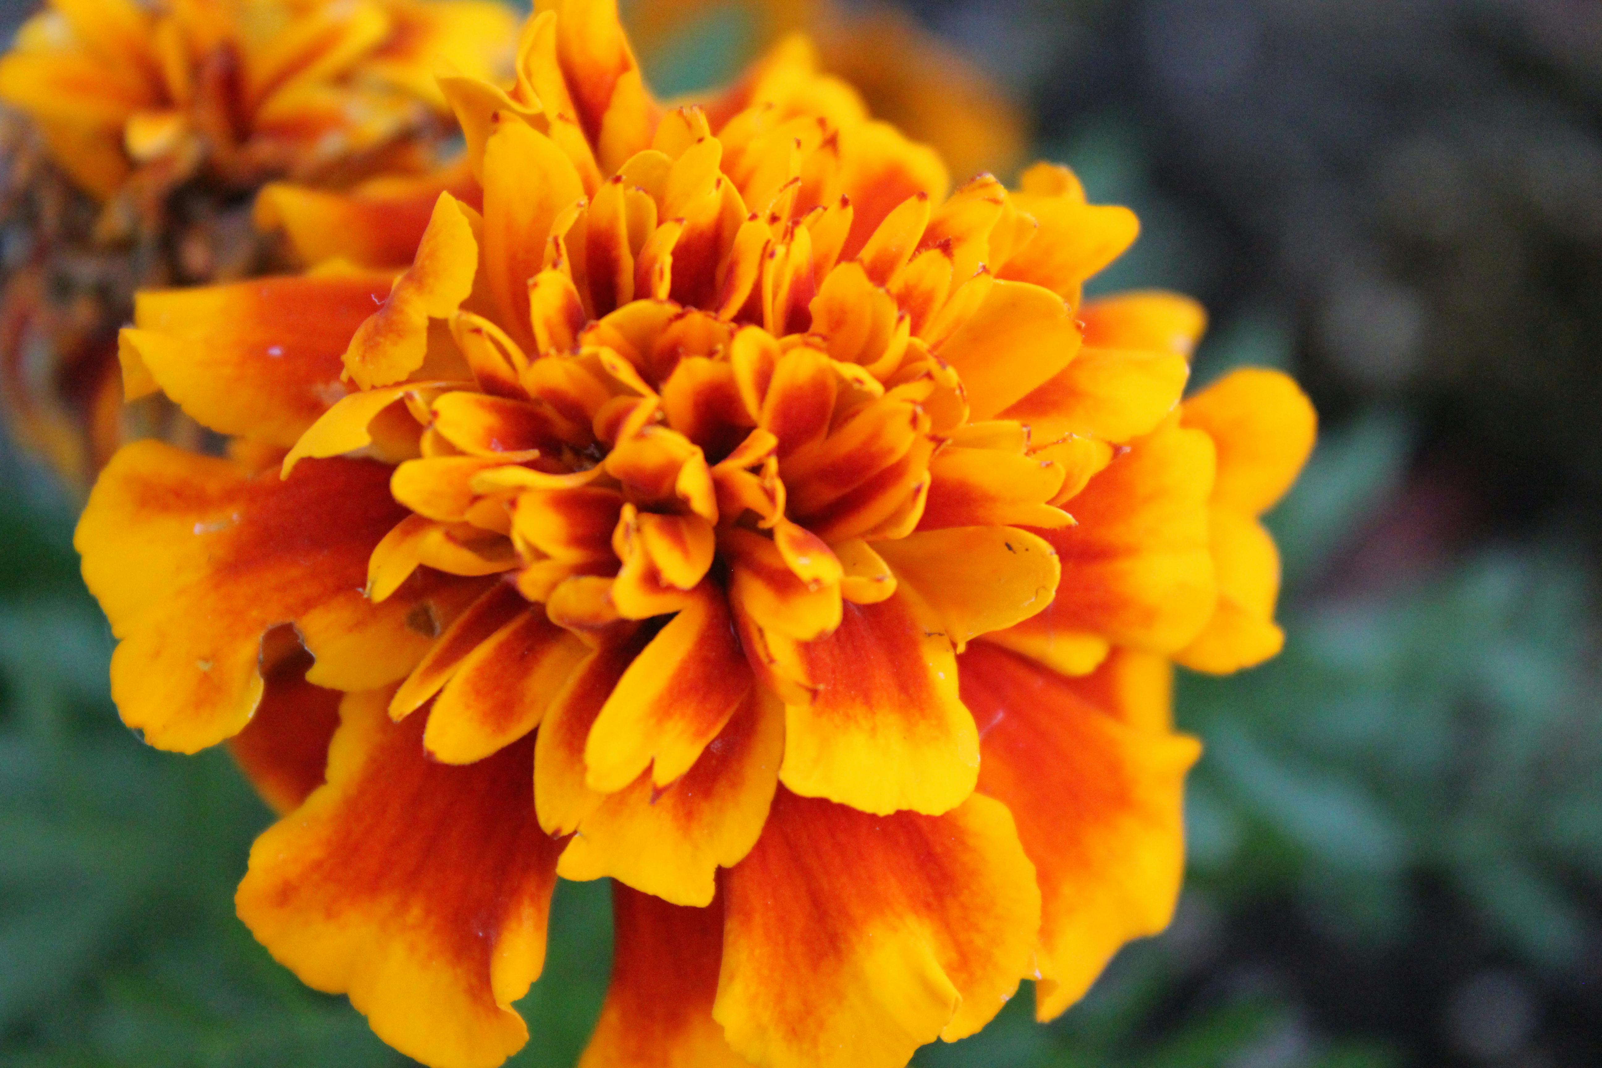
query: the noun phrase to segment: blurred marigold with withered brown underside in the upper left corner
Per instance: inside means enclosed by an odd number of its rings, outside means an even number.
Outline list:
[[[495,77],[511,35],[492,0],[51,0],[0,58],[3,216],[30,245],[0,309],[13,429],[72,479],[128,434],[192,429],[119,418],[133,290],[274,266],[248,223],[266,179],[433,167],[436,64]]]

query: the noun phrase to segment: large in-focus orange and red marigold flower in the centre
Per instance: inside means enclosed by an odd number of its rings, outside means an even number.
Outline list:
[[[566,0],[511,88],[442,88],[482,210],[122,338],[235,442],[123,448],[77,546],[125,722],[234,738],[287,810],[240,917],[452,1068],[527,1041],[557,877],[614,881],[588,1066],[897,1066],[1022,978],[1062,1012],[1171,914],[1171,661],[1272,653],[1242,532],[1306,399],[1179,407],[1200,309],[1081,299],[1131,213],[1049,165],[952,192],[804,48],[662,107]]]

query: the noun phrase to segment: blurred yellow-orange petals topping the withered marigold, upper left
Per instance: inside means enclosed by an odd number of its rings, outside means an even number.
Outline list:
[[[0,101],[107,199],[130,173],[248,189],[417,133],[434,64],[490,77],[509,18],[487,0],[51,0],[0,59]]]

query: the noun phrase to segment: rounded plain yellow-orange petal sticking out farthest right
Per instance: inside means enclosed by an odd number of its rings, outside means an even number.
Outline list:
[[[1232,371],[1185,400],[1184,424],[1218,447],[1213,501],[1259,516],[1274,508],[1312,453],[1318,415],[1280,371]]]

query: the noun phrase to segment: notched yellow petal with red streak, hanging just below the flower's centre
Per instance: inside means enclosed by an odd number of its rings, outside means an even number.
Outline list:
[[[634,658],[585,743],[586,785],[610,794],[650,769],[666,786],[718,737],[751,689],[721,589],[698,586]]]

